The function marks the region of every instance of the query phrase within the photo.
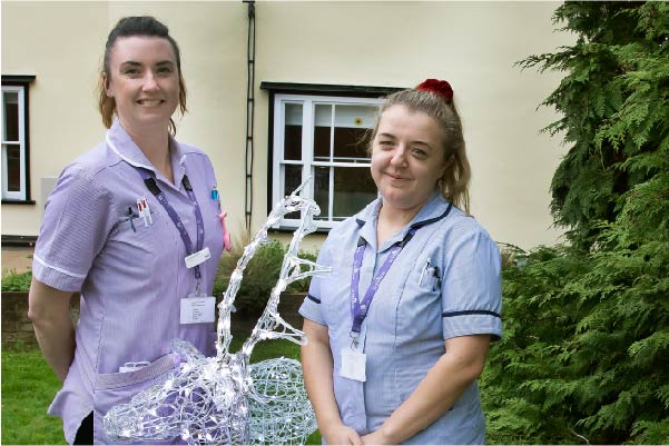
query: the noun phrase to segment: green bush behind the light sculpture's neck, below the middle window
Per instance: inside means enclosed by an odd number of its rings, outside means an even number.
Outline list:
[[[244,270],[244,279],[235,299],[237,314],[240,316],[259,316],[265,306],[272,288],[276,285],[281,272],[284,255],[287,251],[281,241],[273,240],[262,245],[256,250]],[[224,255],[214,281],[214,294],[220,297],[227,289],[230,275],[237,266],[237,260],[243,254],[242,248],[235,248],[232,254]],[[316,255],[299,252],[299,257],[315,261]],[[288,285],[286,293],[304,293],[308,290],[309,279],[303,279]]]

